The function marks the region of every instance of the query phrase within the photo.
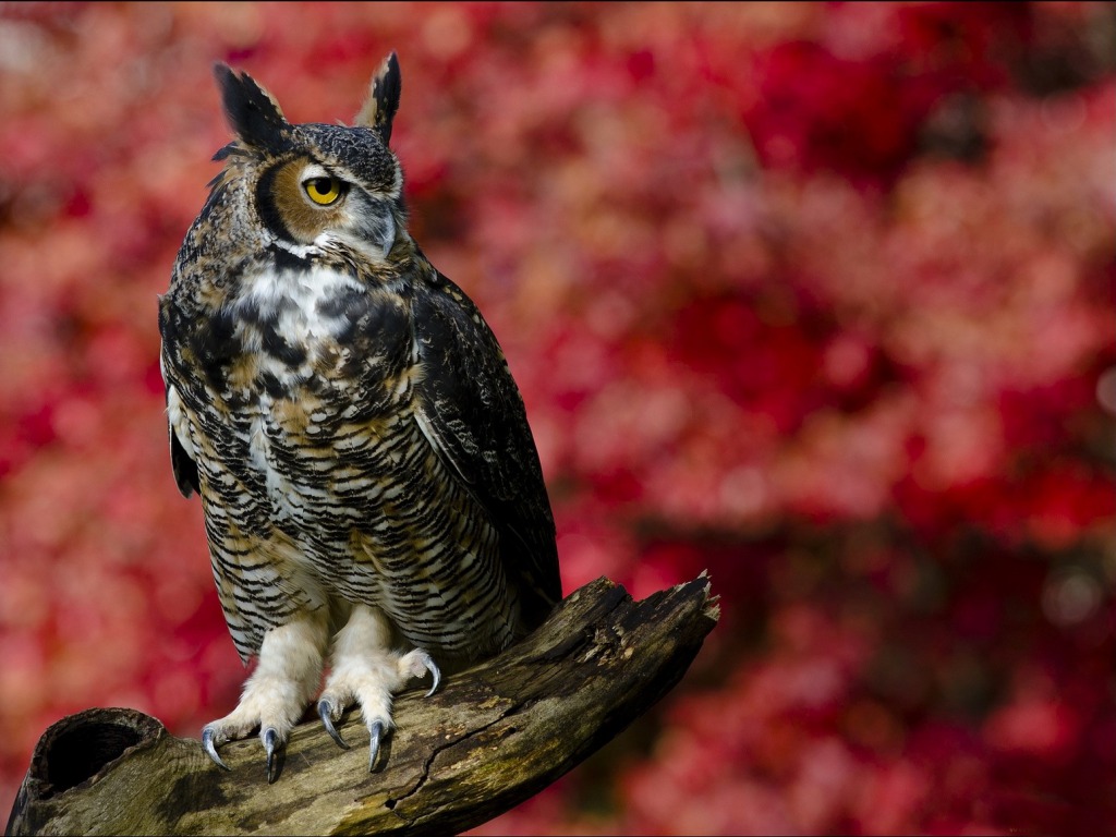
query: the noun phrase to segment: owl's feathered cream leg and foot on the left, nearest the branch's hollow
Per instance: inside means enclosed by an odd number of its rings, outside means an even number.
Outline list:
[[[244,684],[237,709],[202,730],[202,748],[217,764],[229,769],[217,748],[248,738],[259,728],[268,782],[276,780],[276,756],[314,695],[321,676],[325,644],[326,628],[318,619],[294,622],[267,633],[259,663]]]

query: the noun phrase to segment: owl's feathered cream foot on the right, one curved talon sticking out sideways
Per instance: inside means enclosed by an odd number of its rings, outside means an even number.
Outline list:
[[[442,674],[430,654],[415,648],[406,654],[392,651],[391,626],[379,612],[364,605],[354,607],[348,624],[337,634],[333,654],[333,672],[318,701],[318,714],[326,731],[343,749],[348,749],[334,722],[353,703],[360,704],[368,728],[368,770],[376,766],[379,744],[392,729],[392,695],[412,677],[433,680],[426,693],[437,689]]]

